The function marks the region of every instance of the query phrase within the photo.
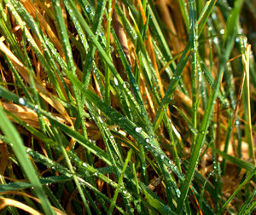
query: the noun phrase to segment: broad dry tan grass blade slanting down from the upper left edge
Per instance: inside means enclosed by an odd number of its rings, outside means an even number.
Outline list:
[[[27,72],[27,68],[19,61],[19,59],[10,51],[10,49],[3,44],[4,38],[0,39],[0,50],[3,51],[5,55],[9,57],[9,60],[12,61],[17,71],[20,73],[21,77],[26,80],[27,83],[30,83],[29,74]],[[55,108],[61,115],[67,119],[67,121],[73,126],[73,122],[67,114],[66,109],[63,107],[61,102],[55,99],[48,90],[44,88],[44,85],[40,83],[37,79],[35,79],[36,88],[40,96],[42,96],[45,102],[48,102],[53,108]]]

